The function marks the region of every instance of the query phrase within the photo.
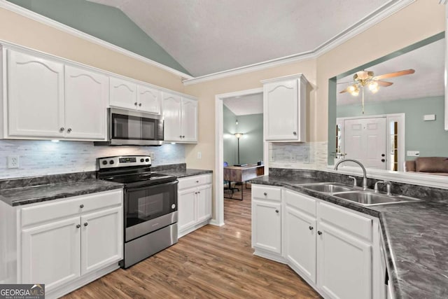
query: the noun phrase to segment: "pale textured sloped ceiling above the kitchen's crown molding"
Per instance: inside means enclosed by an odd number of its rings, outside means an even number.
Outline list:
[[[120,8],[193,76],[306,53],[396,0],[90,0]]]

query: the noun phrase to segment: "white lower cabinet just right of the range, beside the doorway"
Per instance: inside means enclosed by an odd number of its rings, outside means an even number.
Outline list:
[[[179,179],[178,237],[197,230],[211,219],[211,174]]]

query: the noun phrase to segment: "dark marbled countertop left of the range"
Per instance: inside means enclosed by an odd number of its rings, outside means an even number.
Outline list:
[[[24,186],[0,190],[0,200],[10,206],[34,204],[64,197],[83,195],[106,190],[123,188],[121,183],[113,183],[97,179],[73,181],[64,183],[50,183],[48,185]]]

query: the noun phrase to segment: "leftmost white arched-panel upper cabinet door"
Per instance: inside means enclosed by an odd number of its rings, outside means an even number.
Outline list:
[[[64,136],[64,64],[8,50],[8,135]]]

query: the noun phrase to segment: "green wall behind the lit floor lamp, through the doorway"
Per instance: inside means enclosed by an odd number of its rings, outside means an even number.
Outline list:
[[[239,139],[239,162],[241,164],[256,164],[263,160],[263,115],[235,116],[225,105],[223,108],[224,161],[229,165],[238,162],[235,133],[244,134]],[[238,125],[235,124],[237,119]]]

